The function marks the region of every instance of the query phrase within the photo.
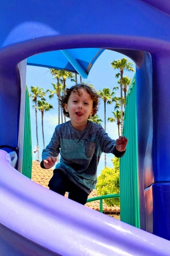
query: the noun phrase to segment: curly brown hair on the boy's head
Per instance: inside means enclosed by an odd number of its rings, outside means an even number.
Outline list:
[[[89,85],[86,84],[76,84],[72,86],[70,89],[65,90],[65,94],[61,96],[60,98],[60,106],[63,109],[63,113],[66,117],[69,117],[69,113],[65,111],[64,106],[67,104],[69,97],[71,96],[72,92],[77,92],[78,96],[81,96],[81,88],[83,88],[87,93],[90,94],[90,98],[93,101],[93,114],[92,117],[97,113],[98,110],[98,104],[99,104],[99,95],[97,92],[90,87]]]

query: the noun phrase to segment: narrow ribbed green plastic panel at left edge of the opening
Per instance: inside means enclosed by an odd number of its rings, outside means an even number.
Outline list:
[[[30,99],[26,88],[25,118],[24,118],[24,145],[22,174],[31,179],[32,174],[32,142],[31,142],[31,119],[30,119]]]

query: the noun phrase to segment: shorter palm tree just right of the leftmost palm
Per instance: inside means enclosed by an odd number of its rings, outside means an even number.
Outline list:
[[[45,148],[45,140],[44,140],[44,112],[48,112],[50,109],[53,109],[53,105],[49,104],[45,101],[45,98],[38,101],[38,109],[42,113],[42,135],[43,135],[43,148]]]

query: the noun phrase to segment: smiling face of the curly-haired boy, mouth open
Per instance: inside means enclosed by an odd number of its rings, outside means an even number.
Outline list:
[[[80,88],[82,94],[78,96],[78,92],[72,92],[65,104],[65,111],[69,112],[72,126],[77,130],[84,130],[89,115],[93,114],[93,101],[90,94],[83,88]]]

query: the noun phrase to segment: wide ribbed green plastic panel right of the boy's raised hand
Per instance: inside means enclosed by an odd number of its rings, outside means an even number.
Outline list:
[[[126,154],[120,159],[121,221],[140,228],[138,186],[138,142],[136,123],[136,77],[127,93],[123,134],[128,138]]]

